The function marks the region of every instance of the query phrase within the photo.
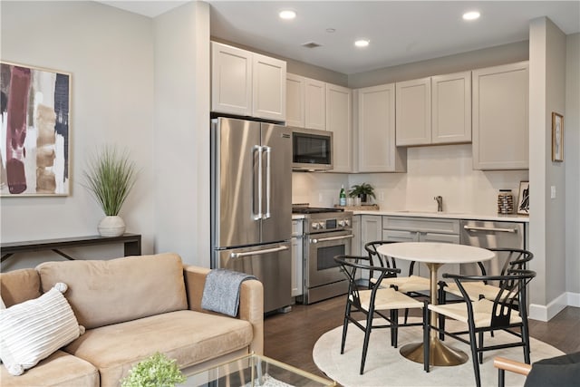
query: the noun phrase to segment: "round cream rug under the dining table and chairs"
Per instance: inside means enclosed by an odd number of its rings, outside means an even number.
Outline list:
[[[411,321],[411,318],[410,318]],[[420,321],[420,320],[416,320]],[[376,322],[376,320],[375,320]],[[458,322],[447,322],[446,328],[459,328]],[[462,328],[459,328],[462,329]],[[362,340],[364,332],[353,324],[349,324],[346,335],[344,353],[341,354],[341,340],[343,326],[323,334],[314,344],[314,363],[329,378],[339,382],[345,387],[363,386],[474,386],[475,376],[471,351],[469,345],[461,343],[450,337],[445,338],[445,343],[453,348],[462,350],[469,355],[467,363],[448,367],[431,366],[430,372],[423,371],[423,364],[414,363],[401,356],[399,350],[407,343],[422,341],[422,328],[411,326],[399,328],[399,348],[391,347],[391,335],[389,329],[375,329],[372,331],[369,342],[364,373],[359,374],[361,368]],[[515,336],[505,332],[496,332],[494,337],[485,335],[487,344],[506,343]],[[564,354],[555,347],[540,342],[534,338],[531,340],[532,363],[548,357]],[[493,358],[496,356],[524,361],[522,347],[507,348],[497,351],[488,351],[483,354],[483,364],[479,364],[482,386],[498,386],[498,369],[493,366]],[[513,372],[506,372],[506,386],[523,386],[525,377]]]

